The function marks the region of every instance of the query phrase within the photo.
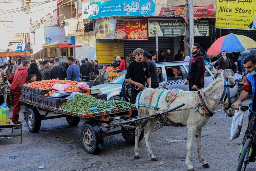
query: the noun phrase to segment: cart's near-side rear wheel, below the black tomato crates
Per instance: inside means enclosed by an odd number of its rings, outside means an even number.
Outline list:
[[[41,120],[37,109],[29,108],[27,110],[26,123],[30,132],[38,132],[40,130]]]

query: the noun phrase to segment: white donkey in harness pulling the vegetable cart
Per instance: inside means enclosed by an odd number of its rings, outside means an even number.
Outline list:
[[[235,109],[231,108],[231,103],[234,103],[238,98],[238,92],[235,92],[234,94],[234,88],[236,89],[237,85],[234,82],[233,77],[230,74],[228,74],[228,71],[226,70],[224,70],[223,72],[223,78],[230,85],[229,90],[226,88],[224,91],[224,80],[222,78],[217,78],[207,88],[202,89],[202,93],[203,93],[202,96],[209,111],[212,111],[213,113],[215,113],[214,110],[220,104],[222,95],[224,94],[223,96],[224,98],[222,101],[225,103],[222,102],[222,105],[224,105],[226,115],[231,117],[234,115],[234,112],[235,112]],[[233,91],[231,92],[231,94],[233,93],[234,97],[228,98],[231,96],[228,96],[227,91],[231,91],[231,90]],[[155,94],[153,96],[151,105],[152,106],[156,105],[157,99],[160,93],[162,92],[162,89],[144,89],[142,91],[139,103],[148,104],[153,91],[155,91]],[[183,106],[180,109],[191,108],[202,103],[202,100],[198,96],[197,92],[181,90],[178,92],[176,99],[173,102],[171,102],[170,107],[167,108],[166,106],[168,103],[165,101],[165,95],[168,91],[169,90],[164,90],[164,92],[162,93],[162,96],[159,99],[159,103],[158,103],[159,110],[165,111],[166,109],[174,108],[183,103],[185,103],[185,106]],[[137,108],[138,108],[137,106],[138,98],[139,98],[139,95],[136,98]],[[156,111],[154,109],[144,107],[144,106],[139,106],[138,108],[139,117],[149,116],[155,112]],[[204,127],[207,124],[209,118],[210,116],[204,114],[204,108],[200,107],[197,111],[195,111],[195,109],[193,108],[193,109],[181,110],[176,112],[169,112],[167,114],[163,114],[160,116],[152,117],[147,120],[139,121],[139,126],[135,130],[136,138],[135,138],[135,148],[134,148],[135,156],[134,157],[136,159],[139,159],[138,139],[141,131],[143,130],[143,127],[147,124],[147,129],[144,132],[147,152],[148,152],[148,155],[151,157],[152,161],[157,160],[151,150],[150,137],[155,127],[155,124],[157,123],[157,121],[159,121],[162,124],[171,125],[171,126],[187,126],[188,141],[187,141],[187,156],[186,156],[185,163],[188,166],[188,171],[194,171],[194,167],[191,165],[191,161],[190,161],[194,138],[196,138],[199,162],[203,164],[203,167],[206,167],[206,168],[210,167],[209,164],[203,159],[202,137],[201,137],[202,127]]]

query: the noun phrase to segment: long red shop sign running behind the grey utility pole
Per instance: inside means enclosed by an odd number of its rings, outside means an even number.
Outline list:
[[[213,17],[208,15],[207,7],[193,7],[194,17],[201,18],[201,17]],[[162,7],[159,16],[166,16],[166,15],[176,15],[179,17],[185,17],[186,15],[186,8],[185,6],[172,6],[172,7]]]

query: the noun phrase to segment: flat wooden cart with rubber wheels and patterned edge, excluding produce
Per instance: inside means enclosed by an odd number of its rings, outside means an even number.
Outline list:
[[[80,140],[86,152],[90,154],[99,153],[103,148],[103,137],[119,133],[122,133],[124,139],[128,143],[135,143],[135,129],[133,128],[132,123],[132,129],[127,129],[127,126],[125,129],[121,124],[112,126],[110,123],[117,121],[122,122],[131,119],[132,110],[136,110],[136,107],[81,114],[37,104],[23,98],[19,98],[19,100],[22,101],[28,108],[27,112],[24,113],[24,116],[30,132],[38,132],[40,130],[41,120],[66,117],[67,123],[69,125],[76,126],[79,124],[80,118],[85,118],[86,120],[80,131]],[[40,114],[38,108],[43,109],[46,112],[44,114]],[[47,116],[48,112],[56,112],[58,114],[55,116]],[[115,131],[112,131],[113,129],[111,128],[114,128]],[[139,141],[142,139],[143,133],[141,133]]]

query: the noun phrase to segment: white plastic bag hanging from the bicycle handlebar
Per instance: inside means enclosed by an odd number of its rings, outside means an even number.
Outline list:
[[[233,116],[231,129],[230,129],[230,140],[238,138],[240,136],[240,132],[243,125],[243,116],[244,112],[242,110],[235,111],[235,114]]]

